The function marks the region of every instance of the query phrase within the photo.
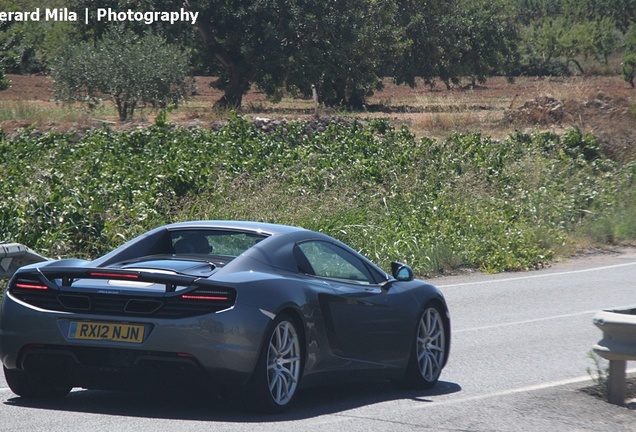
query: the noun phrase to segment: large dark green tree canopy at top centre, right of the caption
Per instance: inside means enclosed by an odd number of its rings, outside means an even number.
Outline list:
[[[200,2],[198,29],[218,63],[217,106],[238,108],[251,84],[273,100],[282,91],[330,106],[362,107],[379,88],[399,45],[395,1]]]

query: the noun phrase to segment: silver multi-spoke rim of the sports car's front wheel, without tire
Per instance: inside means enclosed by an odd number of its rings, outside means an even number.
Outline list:
[[[442,315],[436,308],[428,308],[422,314],[417,330],[417,362],[427,382],[439,378],[445,350],[446,334]]]

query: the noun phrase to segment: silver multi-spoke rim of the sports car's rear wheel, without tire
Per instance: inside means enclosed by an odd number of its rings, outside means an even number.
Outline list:
[[[274,329],[267,353],[267,378],[272,399],[278,405],[289,403],[300,376],[300,344],[294,325],[279,323]]]

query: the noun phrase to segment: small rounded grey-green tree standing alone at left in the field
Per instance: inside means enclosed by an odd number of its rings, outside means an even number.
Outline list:
[[[111,98],[119,119],[139,106],[166,108],[188,98],[188,58],[161,37],[113,31],[97,43],[83,42],[60,55],[51,70],[55,95],[66,102],[95,104]]]

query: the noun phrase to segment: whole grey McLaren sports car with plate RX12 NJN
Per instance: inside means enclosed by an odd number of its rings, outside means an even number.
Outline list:
[[[442,293],[406,265],[388,275],[321,233],[195,221],[94,261],[21,267],[0,309],[11,390],[239,388],[280,412],[298,388],[392,379],[428,388],[450,349]]]

